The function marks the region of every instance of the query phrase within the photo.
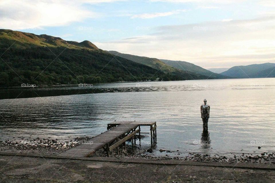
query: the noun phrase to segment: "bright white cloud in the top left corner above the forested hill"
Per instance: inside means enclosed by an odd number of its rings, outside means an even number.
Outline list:
[[[0,1],[0,27],[3,29],[42,29],[63,26],[99,13],[85,9],[84,3],[110,3],[118,0],[5,0]]]

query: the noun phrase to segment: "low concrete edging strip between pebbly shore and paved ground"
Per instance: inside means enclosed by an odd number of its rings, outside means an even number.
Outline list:
[[[26,154],[15,152],[0,152],[1,156],[25,156],[33,158],[50,158],[50,159],[70,159],[70,160],[85,160],[85,161],[101,161],[101,162],[118,162],[118,163],[143,163],[156,165],[189,165],[189,166],[210,166],[221,168],[243,168],[243,169],[258,169],[258,170],[275,170],[275,165],[271,164],[252,164],[252,163],[228,163],[228,162],[199,162],[186,160],[150,160],[142,158],[107,158],[100,156],[93,157],[68,157],[56,155],[40,155]]]

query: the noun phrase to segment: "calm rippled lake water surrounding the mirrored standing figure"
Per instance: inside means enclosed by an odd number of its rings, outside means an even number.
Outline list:
[[[184,154],[274,152],[274,94],[275,78],[0,89],[0,134],[69,139],[96,136],[114,120],[156,121],[154,155],[165,155],[160,148]],[[202,136],[205,98],[209,136]],[[147,146],[149,134],[142,139]]]

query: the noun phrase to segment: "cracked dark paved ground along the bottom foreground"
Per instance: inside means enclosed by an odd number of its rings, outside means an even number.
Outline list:
[[[0,155],[0,182],[173,181],[268,183],[275,182],[275,170]]]

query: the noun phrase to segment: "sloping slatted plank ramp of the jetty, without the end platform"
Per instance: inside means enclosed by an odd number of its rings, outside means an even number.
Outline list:
[[[118,138],[122,137],[126,139],[126,136],[131,134],[131,137],[133,137],[133,135],[139,132],[139,130],[135,130],[138,126],[138,124],[120,124],[106,132],[99,134],[98,136],[83,142],[82,144],[79,144],[58,154],[58,156],[87,157],[93,155],[95,151],[100,148],[104,148],[107,151],[107,155],[109,156],[109,145],[117,140],[117,143],[114,144],[115,146],[111,146],[111,150],[118,148],[120,144],[123,142],[125,143],[125,141],[122,142],[121,140],[118,142]],[[105,148],[105,146],[107,147]]]

